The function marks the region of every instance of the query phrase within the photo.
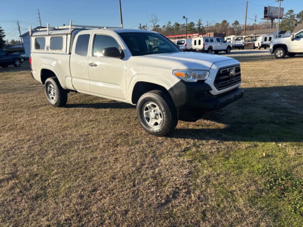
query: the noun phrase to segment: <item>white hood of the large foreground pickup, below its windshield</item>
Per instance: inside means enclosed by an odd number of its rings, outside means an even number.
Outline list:
[[[197,52],[157,53],[131,58],[145,64],[155,64],[166,69],[204,69],[209,70],[213,64],[223,61],[236,61],[226,56]],[[145,64],[144,64],[145,63]]]

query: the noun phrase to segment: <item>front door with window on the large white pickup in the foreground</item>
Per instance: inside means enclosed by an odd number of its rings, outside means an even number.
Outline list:
[[[95,32],[88,57],[90,91],[116,100],[126,100],[126,56],[123,59],[103,55],[104,48],[121,44],[109,34]]]

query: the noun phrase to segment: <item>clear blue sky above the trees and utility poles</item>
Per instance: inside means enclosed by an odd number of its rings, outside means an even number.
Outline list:
[[[158,24],[185,23],[182,16],[188,18],[188,22],[201,18],[204,25],[227,20],[233,23],[238,20],[244,24],[246,0],[121,0],[124,28],[137,28],[139,23],[150,26],[151,14],[160,19]],[[263,18],[265,6],[276,6],[276,0],[250,0],[248,1],[247,24],[253,24],[255,15],[257,23]],[[298,13],[303,10],[302,0],[284,0],[281,7],[284,12],[294,10]],[[119,0],[14,0],[2,1],[0,8],[0,27],[5,31],[5,39],[18,39],[16,21],[20,22],[21,33],[28,31],[29,25],[36,27],[38,22],[38,9],[40,10],[42,26],[49,23],[50,26],[69,24],[120,26]]]

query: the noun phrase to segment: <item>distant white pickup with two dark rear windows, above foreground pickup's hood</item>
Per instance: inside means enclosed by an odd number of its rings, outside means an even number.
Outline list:
[[[221,37],[195,37],[192,39],[192,49],[199,52],[218,53],[225,51],[230,53],[231,43]]]

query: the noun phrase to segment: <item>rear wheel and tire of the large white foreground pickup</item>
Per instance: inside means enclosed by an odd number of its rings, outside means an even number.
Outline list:
[[[56,77],[49,77],[44,84],[46,99],[53,106],[64,106],[67,102],[67,91],[64,90]]]

